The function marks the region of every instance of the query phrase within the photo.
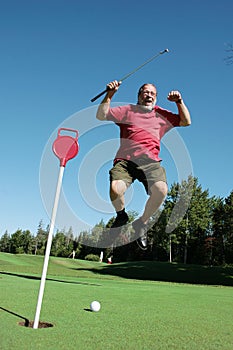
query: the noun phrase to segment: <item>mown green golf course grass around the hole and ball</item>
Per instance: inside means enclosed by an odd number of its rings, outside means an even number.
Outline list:
[[[3,350],[232,349],[232,268],[50,258],[40,320],[53,327],[34,330],[10,312],[34,319],[43,257],[0,253],[0,264]]]

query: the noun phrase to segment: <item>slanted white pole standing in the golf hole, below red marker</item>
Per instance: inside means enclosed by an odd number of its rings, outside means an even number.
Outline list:
[[[65,167],[61,166],[60,171],[59,171],[57,190],[56,190],[56,195],[55,195],[55,200],[54,200],[54,206],[53,206],[52,217],[51,217],[51,222],[50,222],[50,229],[49,229],[49,234],[48,234],[48,241],[47,241],[45,258],[44,258],[44,267],[43,267],[43,272],[42,272],[41,282],[40,282],[40,290],[39,290],[39,295],[38,295],[35,320],[34,320],[34,324],[33,324],[34,329],[38,328],[39,319],[40,319],[40,311],[41,311],[41,305],[42,305],[42,300],[43,300],[43,295],[44,295],[45,280],[46,280],[46,275],[47,275],[50,250],[51,250],[52,239],[53,239],[53,230],[54,230],[55,219],[56,219],[56,215],[57,215],[57,208],[58,208],[58,202],[59,202],[59,197],[60,197],[60,192],[61,192],[61,185],[62,185],[62,178],[63,178],[63,174],[64,174],[64,169],[65,169]]]

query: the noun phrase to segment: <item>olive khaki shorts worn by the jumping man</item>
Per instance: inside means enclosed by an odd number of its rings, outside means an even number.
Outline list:
[[[135,162],[118,160],[109,171],[110,181],[123,180],[129,187],[135,180],[143,183],[146,192],[150,193],[151,186],[158,181],[167,182],[166,171],[160,162],[148,158]]]

